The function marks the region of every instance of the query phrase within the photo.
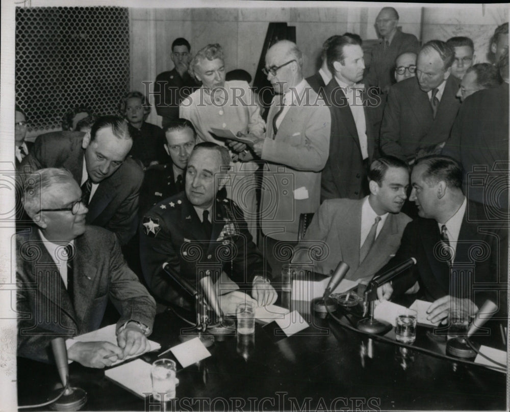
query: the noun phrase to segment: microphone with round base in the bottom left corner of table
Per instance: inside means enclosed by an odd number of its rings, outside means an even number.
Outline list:
[[[81,388],[73,388],[69,385],[69,365],[67,363],[67,349],[63,338],[52,340],[52,350],[55,356],[55,363],[59,371],[60,380],[64,386],[63,395],[52,403],[55,410],[79,410],[87,402],[87,392]],[[62,392],[57,389],[52,394],[53,399]]]

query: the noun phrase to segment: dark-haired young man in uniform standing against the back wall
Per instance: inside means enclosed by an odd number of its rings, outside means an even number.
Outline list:
[[[170,59],[174,68],[164,71],[156,77],[154,101],[156,112],[163,117],[163,127],[170,121],[179,119],[179,104],[197,87],[193,77],[188,73],[191,59],[191,46],[188,40],[179,37],[172,42]]]

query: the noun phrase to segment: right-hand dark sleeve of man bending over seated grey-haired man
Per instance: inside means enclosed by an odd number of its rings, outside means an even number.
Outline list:
[[[112,216],[106,229],[112,231],[117,235],[121,245],[126,244],[136,233],[138,226],[138,200],[140,187],[143,182],[143,171],[131,159],[129,173],[125,174],[123,185],[129,185],[127,196],[122,200],[121,204]]]

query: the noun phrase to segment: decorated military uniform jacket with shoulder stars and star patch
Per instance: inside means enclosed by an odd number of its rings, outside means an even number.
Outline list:
[[[211,212],[212,236],[207,239],[185,192],[152,207],[140,226],[140,259],[150,291],[160,299],[183,306],[191,298],[163,269],[178,273],[196,287],[199,279],[216,281],[224,271],[241,289],[251,291],[255,276],[270,278],[249,234],[241,209],[230,199],[216,199]],[[187,305],[186,305],[187,306]]]

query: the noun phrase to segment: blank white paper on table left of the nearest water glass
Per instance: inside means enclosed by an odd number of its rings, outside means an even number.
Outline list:
[[[136,359],[106,370],[105,376],[136,396],[145,398],[152,393],[150,369],[149,363]]]

